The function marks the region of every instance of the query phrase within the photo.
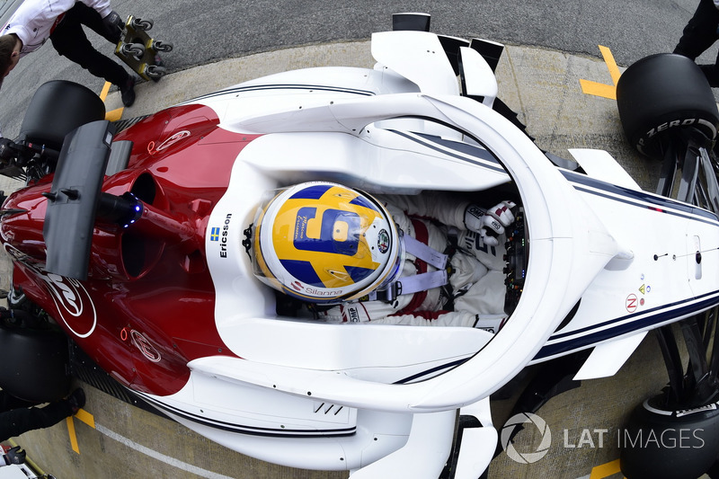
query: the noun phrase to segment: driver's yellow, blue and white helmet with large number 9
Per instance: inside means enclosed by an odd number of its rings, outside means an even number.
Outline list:
[[[403,251],[389,212],[368,194],[332,182],[275,192],[254,221],[253,269],[290,296],[333,304],[381,289]]]

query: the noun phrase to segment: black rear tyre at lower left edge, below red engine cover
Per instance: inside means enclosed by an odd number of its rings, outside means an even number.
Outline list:
[[[36,403],[50,403],[70,392],[67,336],[0,324],[0,389]]]

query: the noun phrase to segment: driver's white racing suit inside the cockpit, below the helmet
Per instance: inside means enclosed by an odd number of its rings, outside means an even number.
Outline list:
[[[467,230],[464,223],[468,202],[457,204],[457,200],[439,195],[377,195],[375,198],[383,202],[404,235],[411,235],[439,253],[451,256],[448,285],[398,296],[392,302],[347,302],[324,311],[320,318],[347,323],[469,327],[483,327],[484,318],[491,324],[499,324],[506,316],[503,313],[504,236],[498,238],[498,245],[489,246],[479,233]],[[408,253],[401,276],[427,271],[434,268]],[[490,329],[496,331],[498,327]]]

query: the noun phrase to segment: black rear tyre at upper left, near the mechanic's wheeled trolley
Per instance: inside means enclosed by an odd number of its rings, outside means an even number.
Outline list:
[[[59,150],[67,133],[104,118],[105,104],[97,93],[81,84],[53,80],[33,94],[18,140]]]

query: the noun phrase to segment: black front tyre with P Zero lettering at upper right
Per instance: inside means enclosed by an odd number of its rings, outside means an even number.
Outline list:
[[[701,69],[689,58],[661,53],[642,58],[617,83],[617,109],[626,138],[640,153],[661,160],[679,129],[716,137],[719,111]]]

